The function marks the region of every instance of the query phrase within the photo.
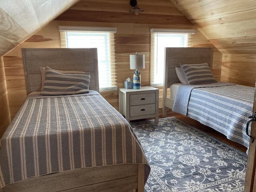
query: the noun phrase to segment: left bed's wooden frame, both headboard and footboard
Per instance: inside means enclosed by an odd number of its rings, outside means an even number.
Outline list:
[[[22,49],[27,94],[41,90],[40,66],[90,72],[90,90],[99,92],[96,48]],[[144,192],[144,164],[80,168],[9,184],[0,192]]]

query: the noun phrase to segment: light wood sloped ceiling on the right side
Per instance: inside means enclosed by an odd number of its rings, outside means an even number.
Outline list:
[[[256,0],[170,0],[222,54],[256,53]]]

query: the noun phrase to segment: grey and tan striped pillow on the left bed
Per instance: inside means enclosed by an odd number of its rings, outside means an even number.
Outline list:
[[[45,80],[40,95],[70,95],[89,92],[90,73],[63,74],[50,67],[45,69]]]

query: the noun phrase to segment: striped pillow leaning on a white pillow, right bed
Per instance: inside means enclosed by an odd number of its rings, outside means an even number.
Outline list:
[[[187,84],[208,84],[217,82],[207,63],[180,64],[182,73],[186,76]]]

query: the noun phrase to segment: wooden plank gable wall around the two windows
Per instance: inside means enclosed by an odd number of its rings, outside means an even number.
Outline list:
[[[99,4],[100,2],[97,1],[95,3],[90,2],[90,6],[86,6],[84,4],[86,1],[81,1],[60,17],[56,18],[56,20],[50,22],[45,28],[26,40],[26,42],[4,56],[11,117],[14,117],[26,97],[21,48],[60,48],[59,25],[116,27],[115,43],[118,88],[124,87],[124,80],[126,80],[126,78],[132,78],[134,70],[130,70],[129,55],[135,54],[135,52],[145,54],[145,69],[140,70],[142,86],[150,85],[150,29],[196,28],[169,0],[162,0],[159,3],[155,0],[149,0],[147,2],[151,2],[151,5],[143,7],[145,11],[136,16],[128,12],[131,8],[129,2],[127,2],[125,6],[126,13],[120,13],[114,10],[111,11],[115,6],[119,7],[119,4]],[[84,10],[76,10],[78,6],[82,6]],[[104,8],[109,9],[110,12],[102,11]],[[146,9],[149,11],[147,12]],[[198,30],[196,30],[196,34],[194,34],[193,46],[214,47]],[[213,73],[217,80],[220,80],[221,62],[222,55],[215,48]],[[159,93],[159,106],[162,107],[161,88]],[[101,94],[118,110],[118,91],[104,91],[101,92]]]

